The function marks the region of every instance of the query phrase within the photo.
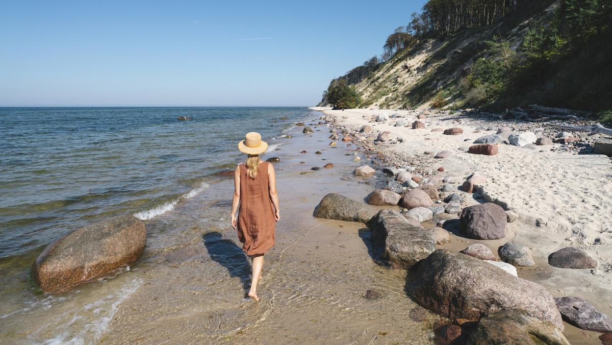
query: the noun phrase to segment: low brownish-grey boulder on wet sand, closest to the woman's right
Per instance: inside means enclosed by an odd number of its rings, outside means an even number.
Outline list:
[[[363,203],[349,199],[344,195],[329,193],[315,207],[316,218],[336,219],[346,222],[365,223],[374,216],[374,212]]]

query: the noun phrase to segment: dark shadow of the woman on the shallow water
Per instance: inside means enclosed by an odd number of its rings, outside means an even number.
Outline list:
[[[234,241],[223,238],[220,232],[207,232],[202,238],[211,259],[227,268],[231,277],[239,277],[242,288],[248,291],[251,284],[251,265],[242,248]]]

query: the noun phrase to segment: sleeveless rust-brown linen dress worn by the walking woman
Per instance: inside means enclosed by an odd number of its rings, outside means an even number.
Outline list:
[[[240,210],[238,211],[238,238],[247,255],[263,254],[274,246],[276,218],[268,187],[268,164],[261,162],[255,180],[248,176],[247,167],[240,170]]]

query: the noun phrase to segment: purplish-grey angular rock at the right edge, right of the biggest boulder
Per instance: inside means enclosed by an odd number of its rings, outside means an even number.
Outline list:
[[[554,298],[563,319],[578,328],[599,333],[612,333],[612,319],[580,297]]]

